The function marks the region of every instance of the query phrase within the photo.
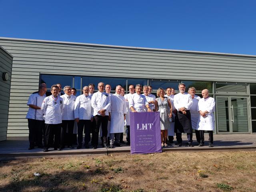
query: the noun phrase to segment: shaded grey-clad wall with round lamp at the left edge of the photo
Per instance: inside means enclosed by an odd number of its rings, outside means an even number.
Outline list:
[[[6,140],[7,136],[12,58],[12,55],[0,46],[0,141]]]

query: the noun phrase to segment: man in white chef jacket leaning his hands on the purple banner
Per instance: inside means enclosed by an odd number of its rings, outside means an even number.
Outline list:
[[[141,94],[141,86],[140,84],[136,85],[135,91],[131,96],[131,99],[129,100],[129,107],[132,112],[146,112],[146,109],[148,112],[152,112],[152,110],[149,107],[149,104],[146,100],[146,97]]]

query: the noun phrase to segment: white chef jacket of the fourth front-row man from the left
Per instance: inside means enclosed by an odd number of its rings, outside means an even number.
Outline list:
[[[80,120],[90,120],[93,117],[93,108],[92,108],[92,96],[85,96],[84,94],[76,98],[74,106],[75,119],[79,118]]]

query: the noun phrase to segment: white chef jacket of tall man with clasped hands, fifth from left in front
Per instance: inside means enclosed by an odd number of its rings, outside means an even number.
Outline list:
[[[105,109],[105,115],[108,116],[108,111],[111,106],[110,96],[105,92],[96,92],[92,96],[92,108],[94,109],[93,116],[101,115],[100,110]]]

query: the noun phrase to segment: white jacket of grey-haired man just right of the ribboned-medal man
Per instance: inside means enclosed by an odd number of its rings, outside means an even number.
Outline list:
[[[64,94],[60,96],[63,99],[63,110],[62,110],[62,120],[74,120],[74,106],[76,102],[76,96],[70,95],[70,99],[68,99],[68,95]]]

